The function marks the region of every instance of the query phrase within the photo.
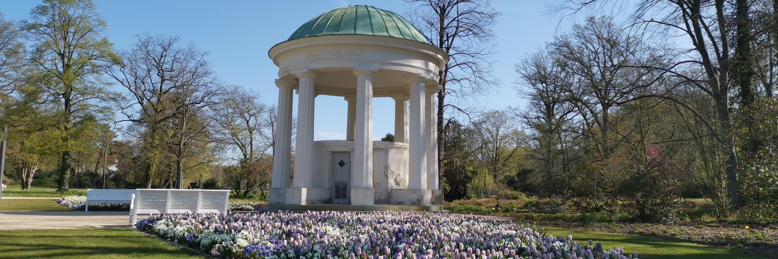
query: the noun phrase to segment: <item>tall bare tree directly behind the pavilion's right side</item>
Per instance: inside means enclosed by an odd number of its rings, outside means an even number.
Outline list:
[[[405,0],[416,5],[410,14],[416,28],[427,40],[440,47],[450,60],[440,71],[438,85],[438,169],[439,188],[443,190],[443,149],[447,111],[468,113],[467,107],[455,105],[447,97],[482,95],[492,89],[497,79],[492,74],[495,35],[492,27],[499,12],[490,0]]]

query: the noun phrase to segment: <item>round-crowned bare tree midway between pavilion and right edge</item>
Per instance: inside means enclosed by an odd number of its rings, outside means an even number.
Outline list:
[[[600,159],[607,160],[616,144],[610,136],[611,114],[647,88],[645,81],[650,72],[622,66],[650,64],[649,49],[607,16],[589,17],[583,24],[574,25],[570,33],[555,37],[550,47],[561,69],[570,76],[569,84],[559,87],[576,105],[584,127],[592,129],[582,133],[594,143]]]

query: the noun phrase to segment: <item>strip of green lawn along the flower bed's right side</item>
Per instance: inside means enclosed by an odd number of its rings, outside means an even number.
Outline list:
[[[539,227],[539,226],[538,226]],[[624,251],[637,250],[640,259],[758,259],[751,254],[743,254],[724,250],[718,247],[708,247],[696,243],[685,243],[672,240],[663,240],[656,237],[643,237],[625,235],[619,233],[604,233],[585,230],[568,230],[556,227],[546,227],[548,235],[559,237],[573,235],[573,240],[579,243],[587,243],[588,240],[602,243],[603,248],[624,247]]]

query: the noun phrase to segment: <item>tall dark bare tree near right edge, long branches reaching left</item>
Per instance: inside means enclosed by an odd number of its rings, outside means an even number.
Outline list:
[[[595,5],[597,2],[599,4]],[[569,5],[555,6],[555,11],[574,14],[587,5],[597,8],[607,0],[587,2],[567,2]],[[730,39],[731,24],[728,13],[737,10],[733,2],[724,0],[642,0],[634,5],[632,26],[643,28],[647,33],[668,33],[684,36],[692,44],[690,48],[676,47],[678,56],[667,65],[636,65],[661,72],[661,77],[682,78],[685,84],[695,86],[699,91],[710,95],[711,103],[717,115],[710,120],[699,119],[710,130],[726,150],[724,162],[727,176],[727,199],[732,205],[740,204],[738,194],[738,144],[733,129],[734,105],[731,102],[731,66],[734,62]],[[699,71],[699,73],[697,73]],[[636,98],[664,98],[677,102],[686,109],[690,106],[672,95],[642,95]],[[699,111],[692,111],[699,113]]]

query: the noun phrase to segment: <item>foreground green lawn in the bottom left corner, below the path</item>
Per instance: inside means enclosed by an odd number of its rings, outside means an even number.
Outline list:
[[[0,258],[207,258],[135,230],[0,230]]]

